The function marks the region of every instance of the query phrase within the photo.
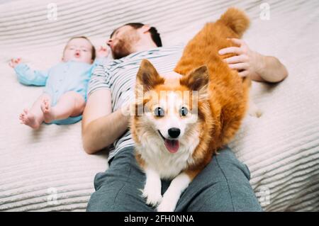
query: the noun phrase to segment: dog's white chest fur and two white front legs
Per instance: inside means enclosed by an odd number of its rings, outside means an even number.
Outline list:
[[[181,143],[179,152],[174,154],[167,152],[162,142],[161,137],[148,137],[136,150],[147,163],[143,167],[146,181],[142,196],[149,205],[159,204],[157,206],[159,212],[171,212],[174,211],[181,193],[191,182],[189,176],[181,171],[193,163],[192,150],[198,145],[198,140]],[[173,179],[164,196],[161,193],[161,179]]]

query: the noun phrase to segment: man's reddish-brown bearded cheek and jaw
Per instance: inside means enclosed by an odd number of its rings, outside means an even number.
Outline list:
[[[140,37],[137,33],[130,32],[123,35],[123,38],[119,39],[118,43],[113,46],[113,59],[121,59],[135,52],[134,45],[138,43],[138,40]]]

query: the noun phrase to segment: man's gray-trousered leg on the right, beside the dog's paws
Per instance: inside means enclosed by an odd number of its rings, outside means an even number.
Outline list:
[[[176,211],[262,211],[250,186],[250,171],[226,147],[189,184]]]

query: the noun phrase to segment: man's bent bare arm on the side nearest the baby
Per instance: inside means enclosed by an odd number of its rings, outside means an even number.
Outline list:
[[[124,107],[125,110],[127,106]],[[111,113],[111,91],[99,89],[92,93],[82,119],[82,141],[86,153],[94,154],[111,145],[128,129],[130,116],[121,109]]]

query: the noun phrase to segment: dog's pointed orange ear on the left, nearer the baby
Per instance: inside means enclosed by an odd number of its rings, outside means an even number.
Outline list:
[[[148,60],[142,60],[136,84],[143,87],[143,91],[150,91],[159,84],[164,84],[165,79],[160,77],[155,67]]]

